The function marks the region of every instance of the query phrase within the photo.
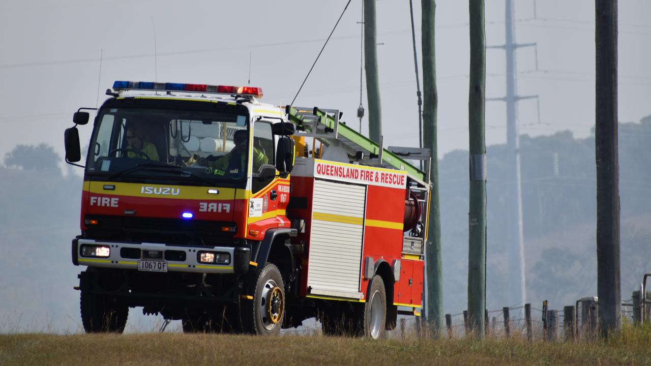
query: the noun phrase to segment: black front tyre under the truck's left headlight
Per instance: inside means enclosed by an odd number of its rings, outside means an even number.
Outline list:
[[[81,323],[86,333],[122,333],[129,315],[129,307],[113,302],[113,298],[92,294],[81,289],[79,296]]]

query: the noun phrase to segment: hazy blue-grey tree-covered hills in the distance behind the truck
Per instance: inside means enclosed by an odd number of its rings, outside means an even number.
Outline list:
[[[619,131],[622,296],[629,298],[651,272],[651,117],[620,124]],[[506,148],[491,146],[487,153],[487,307],[501,309],[512,305],[505,303]],[[64,165],[64,175],[61,160],[48,145],[18,145],[0,165],[0,332],[81,328],[73,290],[81,267],[70,260],[81,197],[81,178],[71,169],[81,169]],[[521,163],[529,302],[540,307],[549,300],[550,309],[562,309],[596,296],[594,137],[523,135]],[[467,167],[467,151],[450,152],[439,163],[446,313],[466,307]],[[135,319],[135,330],[155,325]]]

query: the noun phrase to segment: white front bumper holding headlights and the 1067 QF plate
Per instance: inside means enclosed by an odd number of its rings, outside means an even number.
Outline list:
[[[109,246],[111,253],[107,258],[91,258],[81,255],[81,246],[84,244]],[[137,270],[138,261],[143,258],[145,251],[161,251],[161,259],[167,263],[169,272],[193,272],[203,274],[242,274],[247,272],[249,261],[251,260],[251,249],[248,247],[188,247],[174,246],[163,243],[138,243],[138,242],[113,242],[105,240],[92,240],[75,238],[72,240],[72,262],[75,265],[94,266],[104,268],[120,268],[125,270]],[[167,251],[172,253],[182,253],[184,258],[174,255],[174,259],[166,259]],[[229,253],[230,263],[228,264],[208,264],[199,262],[197,252],[199,251],[217,251]],[[126,255],[129,253],[130,255]],[[133,253],[140,253],[140,258],[134,258]],[[124,255],[124,257],[123,257]],[[152,260],[152,259],[146,259]]]

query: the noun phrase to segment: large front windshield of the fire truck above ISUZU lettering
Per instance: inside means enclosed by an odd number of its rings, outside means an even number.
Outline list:
[[[117,176],[242,180],[247,117],[175,109],[109,108],[98,115],[87,170]]]

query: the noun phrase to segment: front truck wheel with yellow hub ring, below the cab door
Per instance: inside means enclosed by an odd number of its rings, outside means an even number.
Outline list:
[[[285,294],[283,277],[278,267],[267,263],[251,273],[248,294],[253,300],[242,300],[240,318],[245,332],[276,335],[283,325]]]

